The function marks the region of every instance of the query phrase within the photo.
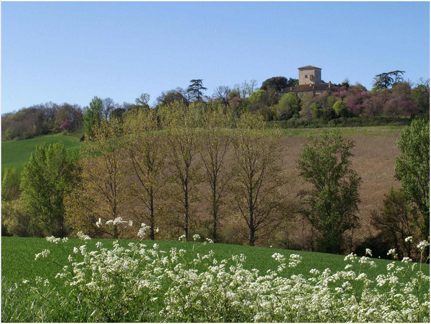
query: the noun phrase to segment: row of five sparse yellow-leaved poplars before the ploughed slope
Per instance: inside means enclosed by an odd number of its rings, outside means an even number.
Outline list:
[[[218,242],[231,215],[254,246],[288,214],[281,132],[255,115],[233,122],[224,106],[175,102],[158,114],[138,109],[123,122],[96,123],[81,148],[79,181],[64,199],[66,225],[128,238],[145,223],[152,240],[188,239],[204,228]],[[119,217],[123,223],[106,225]]]

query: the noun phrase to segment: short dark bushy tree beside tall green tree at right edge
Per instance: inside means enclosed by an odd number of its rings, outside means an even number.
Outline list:
[[[390,188],[384,195],[383,207],[379,212],[372,212],[372,224],[382,232],[381,236],[390,238],[400,260],[412,257],[414,245],[406,238],[414,236],[418,239],[418,213],[403,190]]]

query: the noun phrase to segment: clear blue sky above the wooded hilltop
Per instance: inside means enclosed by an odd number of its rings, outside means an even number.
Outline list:
[[[1,2],[1,112],[298,78],[430,77],[429,2]]]

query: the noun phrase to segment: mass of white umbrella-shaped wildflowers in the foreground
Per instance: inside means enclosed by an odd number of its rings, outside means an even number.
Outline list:
[[[142,224],[140,237],[147,230]],[[427,242],[419,246],[423,252]],[[98,321],[429,322],[429,292],[419,294],[429,281],[422,264],[392,262],[387,274],[372,279],[366,271],[375,262],[352,253],[344,271],[312,269],[306,278],[290,274],[302,262],[300,255],[272,257],[277,270],[260,275],[244,268],[243,254],[218,261],[210,251],[192,259],[184,249],[162,251],[142,239],[127,247],[115,241],[112,249],[102,243],[91,252],[86,245],[75,247],[70,265],[56,278],[72,287]]]

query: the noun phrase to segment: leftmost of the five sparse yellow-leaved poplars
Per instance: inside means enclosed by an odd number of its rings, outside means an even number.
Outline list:
[[[80,151],[82,181],[66,199],[66,221],[75,234],[82,231],[92,237],[107,234],[118,239],[122,234],[118,221],[120,217],[130,220],[131,211],[123,126],[117,118],[102,119],[91,133]],[[101,225],[99,218],[112,223]]]

